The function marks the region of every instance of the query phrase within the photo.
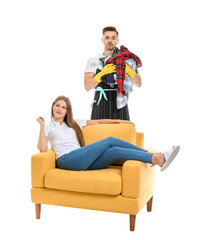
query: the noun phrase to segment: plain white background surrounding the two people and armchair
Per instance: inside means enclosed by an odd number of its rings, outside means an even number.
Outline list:
[[[198,22],[194,0],[0,2],[1,239],[198,239]],[[157,171],[153,211],[137,215],[135,232],[125,214],[42,205],[36,220],[30,200],[36,118],[50,121],[62,94],[75,118],[90,118],[84,68],[103,50],[109,25],[143,62],[129,110],[145,147],[181,146],[172,166]]]

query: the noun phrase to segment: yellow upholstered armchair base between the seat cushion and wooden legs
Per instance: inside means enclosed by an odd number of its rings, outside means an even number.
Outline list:
[[[139,198],[62,191],[50,188],[32,188],[33,203],[49,204],[136,215],[153,196],[154,185]]]

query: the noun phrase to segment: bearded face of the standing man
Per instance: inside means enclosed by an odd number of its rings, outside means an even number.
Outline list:
[[[102,38],[102,42],[107,50],[113,50],[119,42],[117,33],[114,31],[105,32]]]

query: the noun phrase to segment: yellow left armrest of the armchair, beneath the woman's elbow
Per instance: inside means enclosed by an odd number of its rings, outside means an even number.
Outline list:
[[[50,149],[31,157],[32,187],[45,187],[44,176],[49,169],[55,168],[55,152]]]

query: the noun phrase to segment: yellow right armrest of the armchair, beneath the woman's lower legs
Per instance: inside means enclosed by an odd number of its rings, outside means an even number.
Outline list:
[[[138,198],[154,182],[155,168],[151,164],[129,160],[122,167],[122,195]]]

